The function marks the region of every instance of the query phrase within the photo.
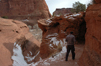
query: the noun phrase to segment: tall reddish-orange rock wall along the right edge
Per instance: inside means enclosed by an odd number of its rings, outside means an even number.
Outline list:
[[[96,2],[100,0],[95,0]],[[101,66],[101,4],[93,4],[86,10],[85,49],[80,66]]]

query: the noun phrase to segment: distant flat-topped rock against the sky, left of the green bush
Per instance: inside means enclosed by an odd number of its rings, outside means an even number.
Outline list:
[[[56,10],[53,12],[53,16],[55,16],[55,15],[65,15],[65,14],[67,14],[67,13],[72,13],[71,10],[72,10],[72,8],[56,9]]]

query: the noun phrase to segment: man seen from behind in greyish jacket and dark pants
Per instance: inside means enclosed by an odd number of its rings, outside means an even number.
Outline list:
[[[75,59],[75,36],[73,35],[73,32],[70,32],[69,35],[66,36],[66,42],[67,42],[67,53],[66,53],[66,59],[65,61],[68,61],[68,56],[69,56],[69,52],[71,50],[72,53],[72,59]]]

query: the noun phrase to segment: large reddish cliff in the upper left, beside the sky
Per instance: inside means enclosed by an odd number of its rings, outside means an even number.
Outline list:
[[[0,16],[12,19],[47,19],[51,17],[45,0],[0,0]]]

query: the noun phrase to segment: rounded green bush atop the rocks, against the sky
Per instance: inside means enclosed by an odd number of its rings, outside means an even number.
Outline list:
[[[72,12],[73,13],[78,13],[80,11],[85,11],[86,10],[86,5],[78,2],[73,3],[73,9]]]

